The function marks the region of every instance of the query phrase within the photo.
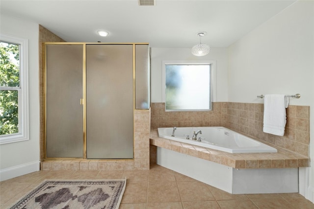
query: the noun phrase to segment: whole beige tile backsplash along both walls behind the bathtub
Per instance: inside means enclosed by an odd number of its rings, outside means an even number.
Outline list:
[[[283,137],[262,132],[263,104],[213,102],[212,111],[165,112],[164,103],[152,103],[151,127],[224,126],[253,139],[309,156],[310,107],[289,105]]]

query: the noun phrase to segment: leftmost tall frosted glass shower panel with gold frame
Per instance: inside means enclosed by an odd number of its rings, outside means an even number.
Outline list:
[[[47,157],[83,157],[83,46],[48,45],[46,56]]]

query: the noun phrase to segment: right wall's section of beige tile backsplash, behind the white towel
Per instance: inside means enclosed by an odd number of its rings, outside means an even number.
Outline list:
[[[228,103],[228,127],[291,152],[309,156],[310,106],[289,105],[283,137],[264,133],[263,104]]]

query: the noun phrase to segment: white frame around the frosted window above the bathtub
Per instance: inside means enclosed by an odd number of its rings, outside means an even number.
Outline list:
[[[216,61],[215,60],[197,60],[197,61],[184,61],[184,60],[169,60],[162,61],[162,102],[166,102],[166,65],[197,65],[207,64],[210,65],[210,102],[217,101],[217,83],[216,83]],[[166,105],[165,105],[166,106]],[[211,105],[210,105],[211,106]],[[210,110],[212,107],[210,108]],[[206,110],[206,111],[210,111]],[[178,111],[204,111],[204,110],[166,110],[168,112]]]

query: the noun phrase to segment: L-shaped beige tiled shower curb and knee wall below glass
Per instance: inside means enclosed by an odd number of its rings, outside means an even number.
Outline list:
[[[134,159],[45,160],[41,170],[149,170],[150,110],[134,110]]]

